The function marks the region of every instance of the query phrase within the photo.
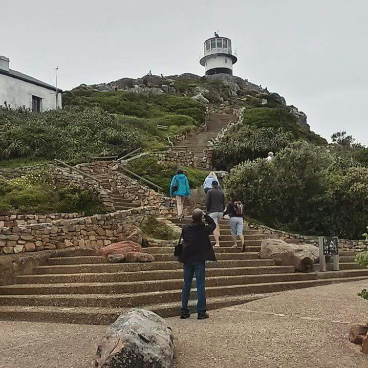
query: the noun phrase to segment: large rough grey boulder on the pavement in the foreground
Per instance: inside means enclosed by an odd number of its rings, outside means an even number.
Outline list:
[[[171,368],[174,335],[168,323],[144,309],[123,312],[98,345],[95,368]]]

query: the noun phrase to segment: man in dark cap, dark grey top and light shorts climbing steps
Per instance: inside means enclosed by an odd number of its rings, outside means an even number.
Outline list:
[[[216,224],[216,228],[213,231],[213,236],[216,244],[215,247],[220,247],[220,220],[224,215],[226,206],[225,194],[219,189],[219,182],[217,180],[212,181],[212,189],[208,190],[206,194],[206,208],[208,214]]]

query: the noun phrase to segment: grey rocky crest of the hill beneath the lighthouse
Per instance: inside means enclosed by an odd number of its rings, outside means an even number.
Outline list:
[[[310,131],[307,115],[297,107],[288,106],[284,97],[269,92],[262,85],[257,85],[238,76],[215,74],[199,76],[192,73],[158,76],[144,75],[141,78],[120,78],[109,83],[81,84],[76,89],[98,92],[124,91],[154,97],[160,94],[191,96],[201,104],[211,104],[217,112],[230,112],[234,107],[276,107],[282,106],[296,118],[296,123]]]

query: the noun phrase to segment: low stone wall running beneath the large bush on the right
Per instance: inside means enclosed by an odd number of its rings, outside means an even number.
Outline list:
[[[277,235],[279,239],[288,241],[293,240],[295,243],[307,243],[318,247],[318,236],[307,236],[300,234],[291,234],[286,231],[272,229],[271,227],[258,224],[248,224],[250,229],[261,230],[263,234]],[[348,240],[339,239],[339,249],[341,251],[354,251],[356,253],[362,252],[368,246],[368,242],[364,240]]]

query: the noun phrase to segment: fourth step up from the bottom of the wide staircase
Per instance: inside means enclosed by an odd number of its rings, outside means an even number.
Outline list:
[[[236,276],[258,275],[273,273],[294,273],[293,266],[256,266],[233,268],[208,268],[206,276]],[[75,273],[75,274],[46,274],[17,276],[17,284],[59,284],[59,283],[114,283],[135,282],[145,280],[168,280],[181,278],[182,269],[177,270],[153,270],[135,272],[100,272],[100,273]]]

